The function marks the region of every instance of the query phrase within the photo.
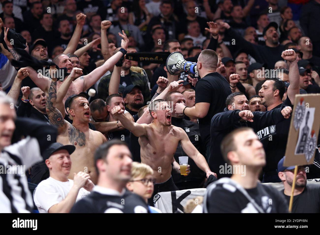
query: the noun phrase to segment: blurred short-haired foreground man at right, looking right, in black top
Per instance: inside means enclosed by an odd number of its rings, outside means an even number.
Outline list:
[[[239,128],[229,133],[222,140],[221,152],[233,168],[232,176],[207,187],[204,213],[288,212],[284,196],[273,186],[259,183],[266,154],[251,128]]]

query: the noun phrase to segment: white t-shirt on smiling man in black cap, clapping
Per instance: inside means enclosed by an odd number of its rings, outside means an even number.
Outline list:
[[[73,186],[73,180],[62,182],[52,177],[41,181],[35,189],[34,201],[39,213],[48,213],[48,210],[55,204],[64,200]],[[84,198],[90,192],[81,188],[76,201]]]

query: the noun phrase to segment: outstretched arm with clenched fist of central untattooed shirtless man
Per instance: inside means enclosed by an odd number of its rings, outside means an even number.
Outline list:
[[[111,114],[115,115],[119,121],[121,121],[122,126],[125,129],[128,129],[132,132],[133,135],[136,137],[140,136],[146,136],[147,130],[146,127],[147,124],[138,124],[134,121],[132,121],[130,118],[128,118],[126,115],[124,115],[124,110],[121,109],[120,106],[116,106],[111,110]]]

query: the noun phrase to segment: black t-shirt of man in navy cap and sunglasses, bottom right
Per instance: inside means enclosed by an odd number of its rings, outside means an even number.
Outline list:
[[[284,190],[281,192],[284,194]],[[289,207],[290,196],[284,197]],[[294,196],[292,213],[320,213],[320,185],[307,184],[303,192]]]

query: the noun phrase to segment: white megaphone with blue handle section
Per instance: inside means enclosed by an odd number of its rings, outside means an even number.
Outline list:
[[[196,74],[197,71],[197,63],[185,60],[179,51],[172,52],[169,55],[165,67],[167,67],[167,70],[171,75],[177,75],[181,71]]]

